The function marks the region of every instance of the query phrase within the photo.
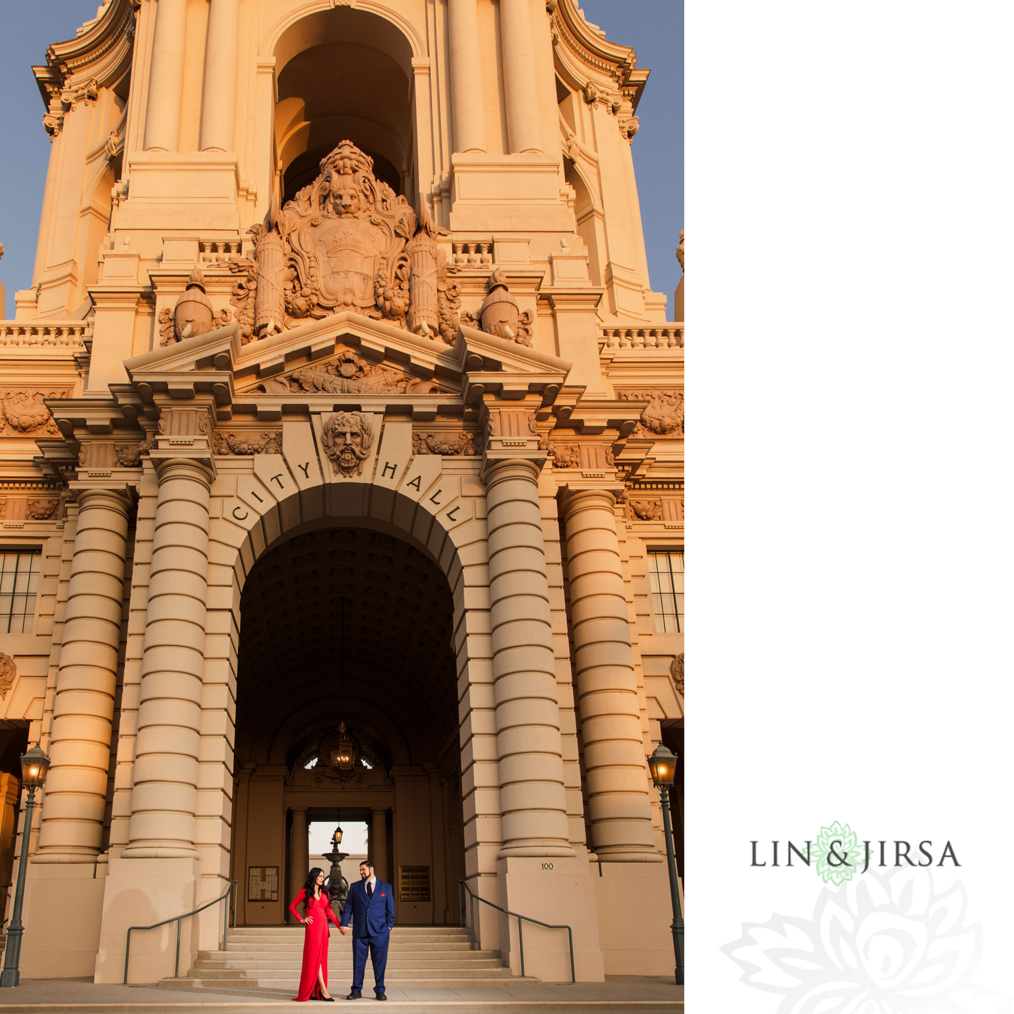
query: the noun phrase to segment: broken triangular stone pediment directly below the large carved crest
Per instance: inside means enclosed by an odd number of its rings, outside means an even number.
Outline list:
[[[452,346],[382,320],[343,311],[243,345],[236,324],[185,339],[126,361],[142,397],[214,391],[237,396],[286,393],[449,393],[559,387],[571,364],[516,342],[461,325]],[[188,394],[190,391],[190,394]]]

